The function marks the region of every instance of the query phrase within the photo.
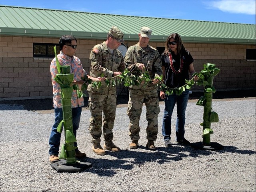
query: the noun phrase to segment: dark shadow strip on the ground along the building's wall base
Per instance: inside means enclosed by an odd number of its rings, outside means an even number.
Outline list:
[[[254,90],[237,90],[237,91],[217,91],[212,94],[213,99],[224,99],[224,98],[246,98],[246,97],[255,97],[256,91]],[[189,94],[189,99],[199,99],[201,96],[204,96],[203,92],[193,92]],[[4,98],[3,98],[4,99]],[[88,107],[88,99],[84,98],[84,107]],[[129,100],[128,95],[118,95],[117,96],[117,104],[127,104]],[[163,101],[159,98],[159,101]],[[33,110],[51,110],[53,109],[53,101],[51,99],[27,99],[27,100],[14,100],[8,101],[3,100],[0,101],[0,105],[2,106],[0,110],[20,110],[21,107],[24,110],[33,111]],[[7,105],[11,105],[12,107],[7,107]],[[19,106],[16,108],[15,106]]]

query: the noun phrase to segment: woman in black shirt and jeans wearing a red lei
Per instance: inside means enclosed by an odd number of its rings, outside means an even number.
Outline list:
[[[161,56],[164,84],[169,88],[178,88],[186,84],[188,80],[188,72],[192,76],[195,73],[193,62],[194,59],[189,51],[185,49],[180,35],[171,34],[165,45],[164,53]],[[194,80],[198,80],[194,76]],[[164,136],[164,144],[172,146],[170,142],[171,135],[171,119],[175,104],[177,104],[177,120],[176,120],[176,142],[189,145],[190,142],[184,138],[185,134],[185,111],[188,104],[189,90],[185,90],[181,95],[166,95],[160,91],[160,98],[164,99],[164,117],[162,125],[162,134]]]

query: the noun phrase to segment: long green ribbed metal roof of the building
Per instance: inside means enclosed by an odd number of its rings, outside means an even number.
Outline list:
[[[225,22],[124,16],[0,5],[0,35],[106,39],[111,26],[124,40],[138,40],[142,26],[152,29],[150,41],[164,42],[173,32],[184,42],[256,44],[256,26]]]

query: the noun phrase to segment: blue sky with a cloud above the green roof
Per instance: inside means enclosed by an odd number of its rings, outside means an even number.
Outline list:
[[[256,0],[0,0],[0,5],[255,24]]]

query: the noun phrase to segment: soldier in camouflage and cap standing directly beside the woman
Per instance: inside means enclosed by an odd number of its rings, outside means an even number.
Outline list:
[[[146,106],[146,118],[148,126],[146,128],[148,143],[146,147],[150,150],[156,150],[154,141],[158,134],[158,114],[160,112],[158,104],[158,80],[156,76],[162,75],[162,66],[158,51],[148,44],[152,30],[148,27],[140,28],[138,44],[128,48],[124,62],[126,68],[136,76],[147,70],[152,79],[152,84],[148,84],[145,88],[140,86],[132,86],[129,88],[129,102],[127,114],[130,118],[129,135],[132,139],[131,149],[138,148],[138,140],[140,139],[140,115],[142,112],[143,102]]]

